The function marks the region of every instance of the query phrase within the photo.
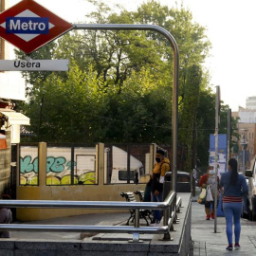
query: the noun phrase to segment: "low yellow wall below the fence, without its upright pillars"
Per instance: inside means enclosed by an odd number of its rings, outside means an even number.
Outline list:
[[[144,188],[145,184],[18,187],[17,200],[125,201],[120,196],[121,192],[135,192],[137,190],[144,190]],[[43,220],[97,213],[99,211],[80,209],[17,209],[17,219],[21,221]],[[101,210],[101,212],[107,211],[110,210]],[[113,211],[117,212],[117,210]]]

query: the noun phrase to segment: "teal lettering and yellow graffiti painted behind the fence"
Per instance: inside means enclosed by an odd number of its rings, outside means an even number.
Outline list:
[[[84,168],[86,163],[82,163]],[[91,164],[91,163],[90,163]],[[48,156],[46,158],[46,185],[71,185],[72,161],[66,160],[64,156]],[[78,170],[77,162],[74,161],[75,174],[72,185],[96,184],[95,170],[85,168]],[[38,186],[38,156],[31,155],[20,157],[20,185]]]

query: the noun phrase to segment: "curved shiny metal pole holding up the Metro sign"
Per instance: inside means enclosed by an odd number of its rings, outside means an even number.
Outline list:
[[[179,68],[179,52],[178,46],[174,40],[174,36],[163,27],[158,27],[155,25],[145,25],[145,24],[74,24],[72,29],[90,29],[90,30],[153,30],[162,35],[164,35],[170,42],[174,51],[174,69],[173,69],[173,191],[176,192],[176,166],[177,166],[177,120],[178,120],[178,68]]]

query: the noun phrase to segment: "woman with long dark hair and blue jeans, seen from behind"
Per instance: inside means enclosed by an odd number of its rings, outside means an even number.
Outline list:
[[[234,220],[235,248],[240,248],[239,239],[241,233],[241,212],[243,204],[243,195],[247,194],[248,187],[244,175],[237,173],[237,160],[229,159],[229,168],[227,173],[222,174],[220,186],[224,187],[223,193],[223,211],[226,218],[226,232],[229,246],[226,249],[232,250],[232,226]]]

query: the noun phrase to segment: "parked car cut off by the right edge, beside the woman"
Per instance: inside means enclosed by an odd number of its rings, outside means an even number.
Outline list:
[[[249,220],[256,220],[256,156],[254,156],[251,169],[246,171],[248,184],[248,210]]]

